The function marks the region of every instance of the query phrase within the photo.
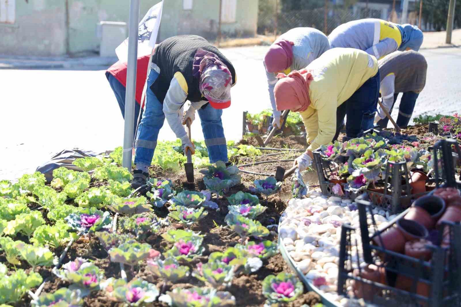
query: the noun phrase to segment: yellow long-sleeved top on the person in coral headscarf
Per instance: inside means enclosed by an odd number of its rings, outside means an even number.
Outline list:
[[[336,109],[363,83],[378,72],[378,61],[365,51],[333,48],[307,65],[313,81],[309,86],[311,104],[301,117],[307,132],[307,150],[333,140]]]

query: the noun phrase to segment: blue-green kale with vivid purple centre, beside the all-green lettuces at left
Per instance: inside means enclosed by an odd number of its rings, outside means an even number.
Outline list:
[[[82,234],[94,233],[100,229],[110,229],[112,218],[109,212],[96,208],[86,208],[81,213],[71,213],[64,219],[72,230]]]

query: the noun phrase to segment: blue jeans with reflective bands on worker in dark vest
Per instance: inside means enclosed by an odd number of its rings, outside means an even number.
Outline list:
[[[157,77],[159,77],[159,73],[151,70],[147,79],[146,110],[142,114],[136,135],[135,164],[151,165],[159,131],[165,121],[163,105],[150,89]],[[227,146],[221,121],[223,111],[206,104],[198,110],[198,113],[210,162],[215,163],[219,160],[227,162]]]

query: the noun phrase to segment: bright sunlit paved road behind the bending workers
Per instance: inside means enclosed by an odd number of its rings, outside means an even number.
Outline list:
[[[267,47],[223,49],[237,71],[232,106],[223,113],[226,138],[242,135],[242,111],[267,108],[269,96],[262,59]],[[426,88],[414,111],[452,114],[461,111],[461,49],[422,50],[428,62]],[[0,179],[35,171],[65,148],[113,149],[123,142],[123,119],[101,70],[0,70]],[[394,108],[396,117],[398,107]],[[203,139],[198,122],[192,136]],[[174,138],[166,124],[159,139]]]

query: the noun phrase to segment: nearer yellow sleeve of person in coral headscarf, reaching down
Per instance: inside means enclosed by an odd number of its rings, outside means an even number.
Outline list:
[[[321,96],[320,106],[317,107],[318,132],[307,150],[315,150],[320,145],[328,144],[333,140],[336,133],[336,109],[337,96],[331,92],[325,92]]]

